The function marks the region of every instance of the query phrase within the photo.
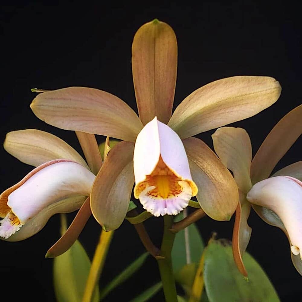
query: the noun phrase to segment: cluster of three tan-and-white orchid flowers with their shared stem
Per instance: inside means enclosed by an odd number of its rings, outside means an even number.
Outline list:
[[[47,124],[76,131],[86,161],[50,133],[8,133],[5,150],[36,168],[0,195],[2,239],[26,239],[52,215],[79,209],[47,252],[47,257],[56,257],[72,246],[91,214],[103,233],[112,233],[127,219],[137,230],[141,227],[142,243],[158,261],[165,299],[176,301],[171,273],[175,233],[204,216],[230,220],[236,211],[233,256],[248,276],[243,254],[253,207],[265,222],[284,231],[302,275],[302,162],[271,175],[302,133],[302,105],[280,120],[252,159],[247,132],[223,126],[274,104],[281,93],[278,81],[265,76],[220,79],[192,92],[172,113],[177,41],[172,28],[158,20],[144,24],[134,36],[132,72],[138,115],[117,96],[94,88],[35,90],[31,110]],[[194,137],[216,128],[212,137],[217,156]],[[95,135],[107,137],[103,160]],[[109,138],[120,141],[111,149]],[[141,214],[133,210],[137,206],[130,203],[132,193],[142,205]],[[198,202],[191,200],[194,196]],[[188,206],[197,210],[173,221]],[[142,224],[152,216],[165,220],[160,249]]]

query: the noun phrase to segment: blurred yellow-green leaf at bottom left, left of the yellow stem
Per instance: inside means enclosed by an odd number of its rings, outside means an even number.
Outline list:
[[[58,302],[82,301],[90,266],[89,257],[78,240],[67,252],[54,259],[53,282]],[[92,301],[99,301],[98,287]]]

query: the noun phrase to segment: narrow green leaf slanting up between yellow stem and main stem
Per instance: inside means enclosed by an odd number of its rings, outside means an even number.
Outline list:
[[[148,252],[143,253],[117,275],[105,288],[101,289],[100,300],[104,299],[114,288],[130,278],[146,261]]]

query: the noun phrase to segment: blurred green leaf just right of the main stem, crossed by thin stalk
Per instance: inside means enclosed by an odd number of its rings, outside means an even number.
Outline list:
[[[176,216],[175,222],[182,219],[183,212]],[[187,232],[188,235],[188,255],[186,253],[185,232]],[[194,223],[189,225],[186,230],[179,231],[175,236],[175,241],[172,249],[172,265],[174,273],[177,274],[186,264],[194,262],[199,263],[203,249],[203,240]]]

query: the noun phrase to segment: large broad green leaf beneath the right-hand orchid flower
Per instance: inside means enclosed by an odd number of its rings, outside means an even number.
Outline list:
[[[261,266],[247,252],[243,262],[249,272],[248,280],[238,271],[232,247],[225,240],[211,239],[204,253],[204,284],[210,302],[280,301]]]

